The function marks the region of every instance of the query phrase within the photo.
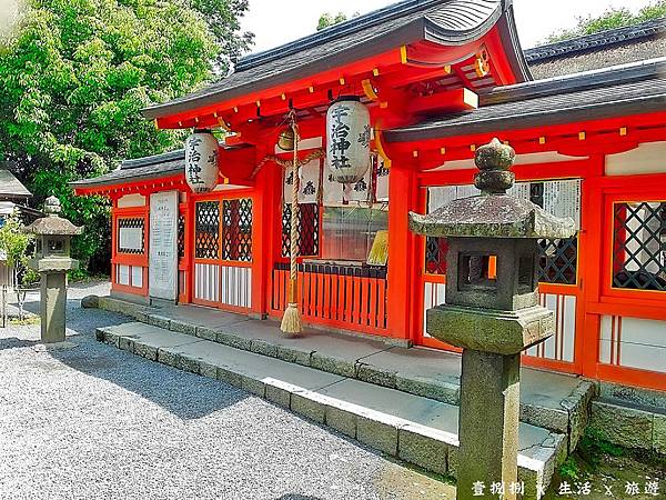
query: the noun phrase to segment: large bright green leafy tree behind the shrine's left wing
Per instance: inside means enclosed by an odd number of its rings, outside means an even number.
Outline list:
[[[218,9],[206,24],[194,10]],[[85,226],[73,244],[87,266],[108,269],[108,204],[73,197],[67,182],[99,176],[122,159],[182,144],[141,117],[204,86],[236,34],[244,0],[28,0],[18,29],[0,40],[0,160],[14,163],[40,203],[57,194],[63,216]],[[226,42],[222,51],[215,38]],[[94,267],[94,262],[91,263]]]

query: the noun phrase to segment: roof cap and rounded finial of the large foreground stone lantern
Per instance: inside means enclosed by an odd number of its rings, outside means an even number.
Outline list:
[[[574,220],[561,219],[523,198],[506,194],[515,182],[508,169],[513,148],[493,139],[478,148],[480,172],[474,183],[481,196],[462,198],[427,216],[410,213],[410,229],[440,238],[532,238],[564,239],[576,233]]]

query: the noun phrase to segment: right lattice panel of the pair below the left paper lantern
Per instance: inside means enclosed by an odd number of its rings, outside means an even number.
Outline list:
[[[252,260],[252,199],[222,201],[222,259]]]

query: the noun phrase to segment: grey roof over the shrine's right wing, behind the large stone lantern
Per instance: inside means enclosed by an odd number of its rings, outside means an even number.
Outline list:
[[[390,142],[666,110],[666,58],[495,89],[480,108],[385,132]]]

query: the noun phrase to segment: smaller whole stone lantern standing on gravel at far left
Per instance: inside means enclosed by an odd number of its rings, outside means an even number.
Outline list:
[[[36,234],[36,256],[29,266],[41,276],[41,340],[43,343],[64,342],[67,307],[67,271],[79,269],[79,261],[70,258],[70,238],[81,234],[83,228],[62,219],[60,200],[47,198],[47,217],[37,219],[24,231]]]

